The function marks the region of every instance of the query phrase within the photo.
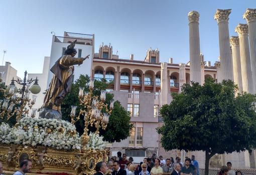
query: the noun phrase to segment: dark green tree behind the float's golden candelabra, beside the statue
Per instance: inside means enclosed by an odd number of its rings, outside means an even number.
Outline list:
[[[78,114],[80,111],[80,104],[78,99],[78,92],[79,87],[85,87],[84,91],[89,91],[89,76],[80,75],[79,79],[77,79],[71,87],[71,92],[65,97],[62,105],[61,105],[61,112],[62,112],[62,119],[71,121],[70,112],[71,112],[71,105],[76,105],[76,113]],[[100,90],[106,90],[109,86],[109,83],[105,79],[101,81],[94,82],[93,88],[93,95],[100,96]],[[113,94],[106,93],[106,104],[110,104],[110,100],[113,99]],[[130,114],[127,112],[119,103],[119,101],[114,102],[114,108],[112,110],[111,115],[109,116],[109,122],[107,124],[106,130],[99,129],[99,135],[102,135],[105,141],[109,142],[120,142],[122,139],[125,139],[130,136],[131,129],[133,124],[130,124]],[[76,122],[76,129],[77,132],[81,135],[84,130],[84,120],[81,117]],[[96,128],[88,127],[89,132],[96,131]]]

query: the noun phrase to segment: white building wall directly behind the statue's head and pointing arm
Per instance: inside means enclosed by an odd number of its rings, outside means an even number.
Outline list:
[[[54,42],[55,36],[53,36],[52,40],[52,48],[51,48],[51,57],[50,57],[50,67],[49,69],[52,68],[54,63],[62,56],[62,48],[65,47],[67,48],[70,43],[58,43]],[[75,66],[75,71],[74,71],[74,80],[78,79],[80,74],[87,74],[90,76],[91,74],[91,65],[92,65],[92,50],[93,46],[89,45],[81,45],[81,44],[76,44],[75,49],[77,50],[76,57],[78,57],[78,49],[82,49],[82,57],[86,57],[87,55],[89,56],[89,59],[86,59],[82,65],[74,65]],[[48,80],[47,80],[47,87],[49,86],[51,79],[52,79],[52,72],[49,70],[48,74]]]

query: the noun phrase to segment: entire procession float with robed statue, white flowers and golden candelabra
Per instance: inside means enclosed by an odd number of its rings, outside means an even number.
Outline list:
[[[0,100],[0,118],[9,120],[16,117],[16,124],[10,127],[0,125],[0,161],[6,174],[19,169],[25,159],[31,159],[33,168],[27,174],[93,174],[95,164],[107,159],[106,142],[99,136],[99,129],[105,129],[113,108],[113,101],[105,104],[106,91],[100,96],[93,96],[93,80],[89,83],[89,92],[79,87],[80,111],[77,106],[70,106],[71,122],[62,120],[60,106],[70,92],[73,65],[82,64],[88,58],[74,58],[75,42],[71,43],[64,56],[51,68],[53,77],[44,99],[39,117],[33,108],[36,96],[30,99],[30,93],[40,92],[38,80],[12,80],[5,90],[4,100]],[[18,90],[15,81],[21,84]],[[32,86],[32,82],[35,82]],[[3,89],[1,89],[4,91]],[[76,131],[75,123],[84,119],[84,132],[81,136]],[[95,132],[88,133],[88,126],[94,126]]]

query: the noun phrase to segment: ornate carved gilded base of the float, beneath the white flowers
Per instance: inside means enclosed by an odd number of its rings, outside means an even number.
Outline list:
[[[12,151],[15,150],[15,151]],[[46,150],[46,152],[42,151]],[[80,151],[55,150],[42,146],[0,145],[0,161],[5,174],[12,174],[19,169],[19,162],[31,159],[33,168],[26,174],[61,173],[94,174],[95,165],[106,156],[106,150],[87,149]]]

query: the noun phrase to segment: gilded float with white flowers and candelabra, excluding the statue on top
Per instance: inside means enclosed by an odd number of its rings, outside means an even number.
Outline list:
[[[10,91],[13,92],[13,88],[11,87]],[[4,122],[0,124],[0,161],[4,162],[4,168],[9,170],[6,174],[16,171],[19,162],[28,158],[33,162],[34,174],[95,173],[96,162],[106,160],[108,152],[105,149],[107,142],[98,134],[99,128],[106,128],[114,102],[104,103],[106,91],[101,91],[100,97],[92,95],[93,80],[90,81],[89,92],[84,93],[83,88],[79,89],[78,97],[82,108],[76,115],[76,106],[72,106],[71,123],[59,119],[36,118],[35,109],[32,110],[31,116],[28,116],[28,109],[32,109],[33,104],[30,103],[29,98],[26,98],[27,105],[23,104],[25,112],[20,111],[19,114],[22,115],[16,118],[15,126],[10,127]],[[20,108],[12,106],[13,109],[9,110],[8,106],[17,104],[15,99],[18,98],[14,98],[14,94],[10,93],[8,98],[10,101],[6,100],[3,104],[5,109],[3,110],[3,106],[1,109],[12,117]],[[24,99],[19,98],[19,100]],[[1,103],[2,101],[0,105]],[[0,117],[4,115],[2,113]],[[76,132],[74,125],[80,116],[84,117],[85,121],[84,133],[81,136]],[[94,125],[96,132],[88,134],[89,125]]]

